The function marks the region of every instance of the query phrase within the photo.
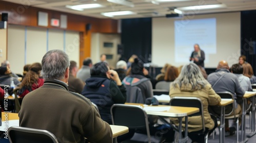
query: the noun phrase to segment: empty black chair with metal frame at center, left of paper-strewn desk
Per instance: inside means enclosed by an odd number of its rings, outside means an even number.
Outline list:
[[[113,125],[126,126],[129,129],[146,128],[147,142],[151,142],[147,114],[141,106],[114,104],[111,107],[111,116]]]

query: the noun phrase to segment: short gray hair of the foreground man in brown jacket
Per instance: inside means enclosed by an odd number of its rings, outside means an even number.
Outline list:
[[[65,77],[65,71],[69,67],[69,56],[61,50],[48,51],[42,57],[41,75],[44,79],[61,80]]]

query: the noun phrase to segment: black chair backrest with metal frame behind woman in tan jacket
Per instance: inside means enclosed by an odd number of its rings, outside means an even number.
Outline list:
[[[170,98],[170,105],[171,106],[183,106],[183,107],[196,107],[199,108],[199,112],[191,114],[189,116],[202,116],[202,125],[203,125],[203,132],[205,131],[204,125],[204,108],[202,101],[196,97],[173,97]]]

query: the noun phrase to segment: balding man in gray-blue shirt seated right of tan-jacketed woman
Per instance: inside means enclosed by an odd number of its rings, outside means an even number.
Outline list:
[[[207,78],[215,91],[229,91],[233,94],[236,106],[236,113],[241,113],[242,97],[245,90],[239,83],[238,77],[229,71],[228,63],[224,60],[220,61],[215,73],[211,73]],[[218,106],[211,107],[213,111],[220,115],[220,108]],[[226,114],[232,111],[232,106],[226,106]],[[233,111],[230,115],[233,115]],[[235,127],[229,127],[228,120],[225,120],[225,131],[229,135],[236,133]]]

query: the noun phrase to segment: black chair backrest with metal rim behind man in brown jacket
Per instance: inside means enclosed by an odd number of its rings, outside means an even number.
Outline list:
[[[12,143],[57,143],[57,138],[47,130],[39,130],[26,127],[10,127],[8,129],[8,138]]]

